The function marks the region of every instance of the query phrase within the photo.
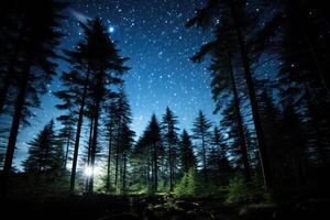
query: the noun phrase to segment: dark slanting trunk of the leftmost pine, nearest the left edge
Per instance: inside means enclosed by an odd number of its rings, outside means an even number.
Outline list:
[[[18,140],[19,129],[20,129],[20,122],[22,119],[23,108],[25,106],[25,96],[26,96],[29,78],[30,78],[30,69],[31,69],[31,62],[28,61],[22,72],[20,91],[18,94],[18,98],[15,101],[15,110],[12,118],[10,135],[8,140],[7,153],[4,158],[3,172],[2,172],[2,186],[1,186],[1,196],[3,196],[2,198],[7,196],[7,187],[10,177],[10,172],[12,169],[12,162],[13,162],[15,144]]]

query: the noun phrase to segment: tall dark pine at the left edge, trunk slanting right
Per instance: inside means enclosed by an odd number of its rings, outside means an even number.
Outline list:
[[[10,1],[1,7],[1,87],[0,114],[11,116],[1,193],[6,194],[12,170],[20,125],[29,123],[32,108],[40,106],[40,96],[56,75],[55,52],[62,34],[59,26],[65,4],[51,0],[38,2]]]

